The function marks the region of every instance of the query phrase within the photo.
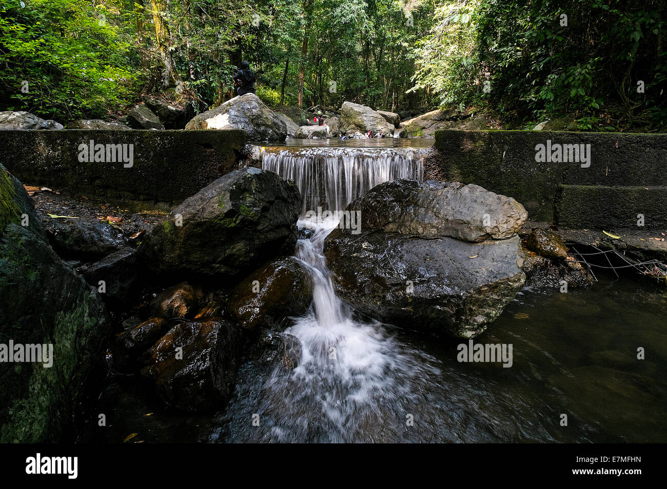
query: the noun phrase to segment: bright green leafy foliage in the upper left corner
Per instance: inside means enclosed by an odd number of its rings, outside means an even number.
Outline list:
[[[0,105],[59,119],[127,103],[135,75],[115,13],[84,0],[0,0]]]

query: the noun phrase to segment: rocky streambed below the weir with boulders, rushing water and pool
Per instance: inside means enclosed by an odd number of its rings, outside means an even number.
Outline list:
[[[380,183],[338,209],[356,232],[256,168],[168,211],[35,205],[0,173],[0,342],[55,345],[53,369],[0,364],[3,441],[664,441],[640,416],[664,410],[664,298],[589,288],[514,199]],[[514,344],[512,368],[458,361],[471,338]]]

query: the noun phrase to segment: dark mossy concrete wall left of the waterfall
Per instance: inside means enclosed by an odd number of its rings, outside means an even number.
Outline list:
[[[133,165],[81,163],[79,145],[133,145]],[[177,203],[236,168],[243,131],[0,131],[0,161],[25,185]],[[129,148],[129,147],[128,147]]]

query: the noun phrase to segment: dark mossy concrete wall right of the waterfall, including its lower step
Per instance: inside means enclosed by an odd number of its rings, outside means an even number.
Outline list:
[[[536,162],[536,146],[590,145],[590,166]],[[530,219],[561,227],[667,227],[667,135],[436,131],[444,180],[514,197]]]

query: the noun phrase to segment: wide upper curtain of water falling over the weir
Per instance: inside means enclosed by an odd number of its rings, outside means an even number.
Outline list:
[[[317,207],[343,211],[354,199],[383,182],[421,181],[427,151],[424,148],[268,148],[262,155],[261,167],[296,183],[303,197],[303,215]]]

